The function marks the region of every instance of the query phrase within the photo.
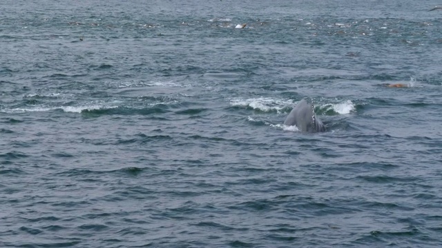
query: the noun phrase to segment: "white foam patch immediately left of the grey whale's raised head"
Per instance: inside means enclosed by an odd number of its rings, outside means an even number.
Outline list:
[[[275,111],[280,112],[287,105],[293,105],[291,100],[277,100],[271,98],[260,97],[258,99],[232,99],[230,100],[232,106],[251,107],[254,110],[261,110],[264,112]]]

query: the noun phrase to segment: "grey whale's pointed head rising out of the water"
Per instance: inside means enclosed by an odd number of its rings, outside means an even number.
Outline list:
[[[301,132],[325,132],[325,126],[316,116],[314,106],[305,99],[296,104],[285,118],[284,125],[296,125]]]

